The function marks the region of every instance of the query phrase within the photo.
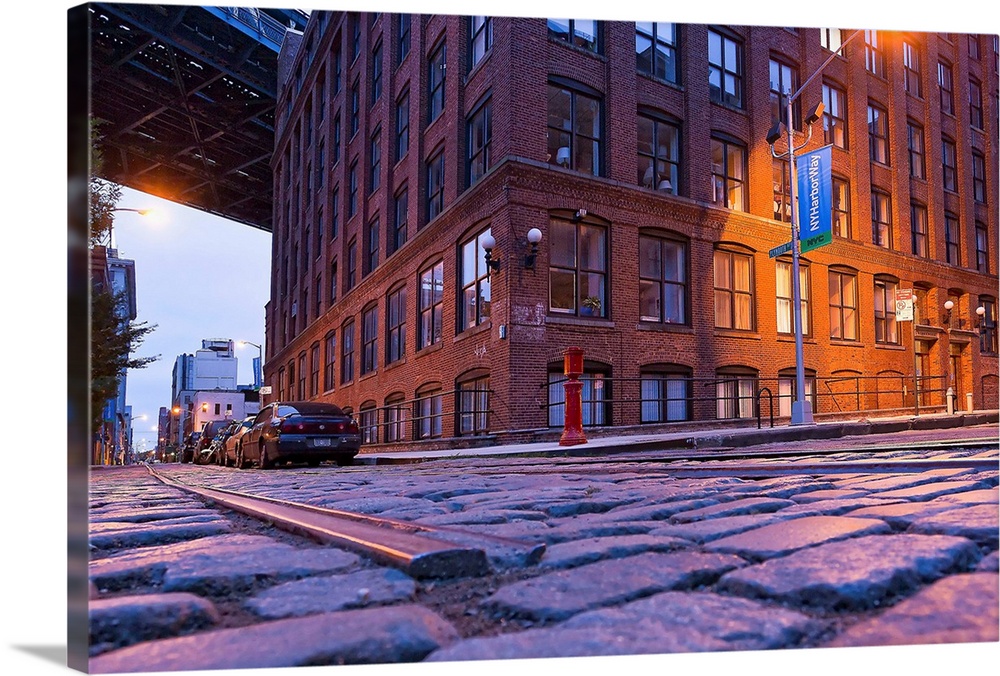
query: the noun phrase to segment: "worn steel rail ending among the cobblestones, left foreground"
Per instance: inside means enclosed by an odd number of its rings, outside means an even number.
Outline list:
[[[157,472],[165,484],[210,500],[293,533],[351,549],[399,568],[415,578],[481,576],[493,572],[490,560],[537,563],[545,545],[432,527],[396,519],[316,507],[222,488],[196,486]]]

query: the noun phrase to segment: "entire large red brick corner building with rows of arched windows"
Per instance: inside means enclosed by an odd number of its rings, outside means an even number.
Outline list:
[[[594,428],[787,417],[765,139],[852,33],[313,13],[281,55],[271,397],[370,444],[525,439],[561,428],[579,346]],[[995,36],[866,31],[796,101],[795,143],[833,145],[833,242],[800,271],[816,419],[997,408],[997,63]]]

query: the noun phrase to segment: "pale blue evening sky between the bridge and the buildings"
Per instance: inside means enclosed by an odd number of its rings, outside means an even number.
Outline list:
[[[156,325],[135,355],[159,359],[130,370],[125,390],[133,443],[152,449],[159,409],[171,404],[178,355],[193,354],[203,339],[233,340],[237,383],[253,383],[258,351],[239,341],[264,346],[271,234],[129,188],[118,206],[152,209],[146,216],[120,211],[114,225],[118,256],[135,261],[136,321]]]

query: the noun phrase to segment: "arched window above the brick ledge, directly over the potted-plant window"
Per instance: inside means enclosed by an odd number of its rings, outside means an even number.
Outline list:
[[[601,101],[549,84],[549,163],[594,176],[601,174]]]

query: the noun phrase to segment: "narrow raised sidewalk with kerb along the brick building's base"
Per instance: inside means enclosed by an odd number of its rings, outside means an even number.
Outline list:
[[[664,449],[724,449],[758,444],[837,439],[867,434],[892,434],[909,430],[944,430],[974,425],[997,424],[1000,411],[973,413],[936,413],[921,416],[861,418],[855,421],[820,422],[815,425],[747,427],[741,429],[706,429],[662,434],[630,434],[589,439],[586,444],[560,446],[558,441],[508,444],[479,448],[418,450],[363,453],[354,459],[357,465],[392,465],[481,456],[573,457],[632,453]]]

